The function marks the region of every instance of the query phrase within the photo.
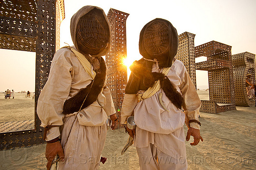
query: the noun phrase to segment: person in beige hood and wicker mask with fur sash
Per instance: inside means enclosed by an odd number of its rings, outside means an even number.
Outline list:
[[[85,6],[71,18],[70,29],[74,46],[55,53],[37,104],[45,127],[47,169],[56,155],[59,169],[98,169],[108,116],[111,128],[117,127],[101,57],[110,50],[111,28],[101,8]]]

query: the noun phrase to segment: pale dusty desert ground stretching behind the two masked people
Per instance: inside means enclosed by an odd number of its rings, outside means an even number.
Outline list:
[[[201,100],[207,100],[206,91],[198,93]],[[20,101],[18,99],[18,95],[14,100],[0,95],[0,123],[33,119],[34,101],[24,96],[20,96]],[[20,102],[25,105],[21,106]],[[200,122],[204,141],[197,146],[189,144],[193,137],[186,141],[188,169],[256,169],[256,107],[237,107],[237,110],[219,114],[200,112]],[[185,126],[184,129],[186,133]],[[102,157],[107,160],[100,163],[99,169],[139,169],[135,147],[121,155],[127,138],[124,129],[108,130],[102,152]],[[46,169],[45,146],[42,143],[0,151],[0,169]]]

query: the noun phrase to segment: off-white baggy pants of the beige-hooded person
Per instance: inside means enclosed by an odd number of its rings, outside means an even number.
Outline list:
[[[75,115],[65,117],[61,132],[61,145],[67,140]],[[100,155],[106,139],[106,124],[103,126],[82,126],[76,119],[65,148],[65,161],[59,162],[58,169],[98,169]]]

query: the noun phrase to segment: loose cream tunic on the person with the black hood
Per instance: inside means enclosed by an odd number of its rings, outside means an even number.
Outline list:
[[[152,72],[158,72],[156,64],[153,65]],[[171,157],[186,157],[183,125],[184,122],[188,125],[190,119],[199,119],[201,101],[181,61],[174,61],[167,77],[182,94],[184,99],[182,107],[185,111],[170,102],[162,89],[140,102],[136,94],[125,94],[121,124],[125,124],[127,117],[134,114],[137,125],[134,144],[137,148],[148,147],[152,143]],[[163,109],[158,100],[160,92],[163,94],[162,101],[168,111]],[[200,129],[197,123],[190,123],[190,127]]]

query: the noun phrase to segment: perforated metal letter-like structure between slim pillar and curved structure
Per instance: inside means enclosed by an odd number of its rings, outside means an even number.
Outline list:
[[[234,101],[231,46],[210,41],[195,47],[195,57],[207,57],[196,69],[208,71],[209,101],[202,101],[201,112],[219,113],[236,110]]]

